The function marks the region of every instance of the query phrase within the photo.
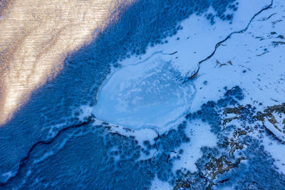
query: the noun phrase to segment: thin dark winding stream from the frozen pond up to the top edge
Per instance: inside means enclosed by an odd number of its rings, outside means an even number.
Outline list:
[[[252,21],[255,19],[255,17],[257,17],[257,16],[258,16],[259,14],[261,14],[263,11],[266,11],[267,9],[270,9],[271,6],[272,6],[272,4],[273,4],[273,0],[271,0],[271,3],[270,3],[268,6],[264,7],[263,9],[261,9],[260,11],[258,11],[256,14],[254,14],[254,16],[252,16],[252,19],[250,19],[249,23],[247,23],[247,27],[245,27],[244,29],[242,29],[242,30],[240,30],[240,31],[234,31],[234,32],[232,32],[232,33],[229,33],[229,35],[228,35],[226,38],[224,38],[224,40],[219,41],[219,42],[216,44],[216,46],[214,46],[214,51],[213,51],[209,56],[207,56],[207,58],[204,58],[203,60],[200,60],[200,61],[199,61],[199,63],[198,63],[198,69],[195,71],[194,74],[192,74],[189,78],[187,78],[187,80],[192,80],[192,79],[196,78],[196,76],[197,76],[198,73],[199,73],[199,68],[200,68],[201,63],[203,63],[204,61],[208,60],[209,58],[212,58],[212,56],[214,56],[214,53],[216,53],[217,48],[219,48],[219,46],[221,46],[222,43],[224,43],[224,42],[227,41],[229,38],[231,38],[233,34],[246,32],[247,29],[249,28],[250,24],[252,23]],[[187,82],[187,80],[185,80],[184,83]]]

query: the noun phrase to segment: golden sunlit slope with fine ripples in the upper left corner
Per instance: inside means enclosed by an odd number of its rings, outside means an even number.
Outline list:
[[[19,0],[6,4],[0,19],[0,125],[32,90],[61,70],[68,52],[90,42],[93,31],[102,31],[118,17],[118,7],[132,1]]]

